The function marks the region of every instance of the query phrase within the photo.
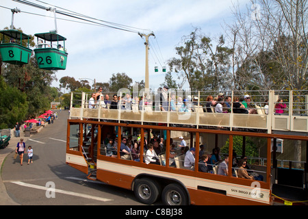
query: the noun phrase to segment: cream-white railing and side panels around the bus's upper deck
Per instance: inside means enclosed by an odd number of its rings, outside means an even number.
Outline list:
[[[256,92],[256,91],[253,91]],[[162,111],[162,105],[155,107],[155,93],[146,94],[142,92],[140,96],[148,98],[146,101],[138,101],[132,99],[131,106],[125,108],[122,102],[118,103],[118,109],[113,110],[110,103],[106,107],[101,107],[101,101],[96,101],[95,108],[89,108],[90,95],[83,92],[81,99],[76,99],[73,92],[70,101],[70,118],[95,119],[95,120],[114,120],[120,122],[136,122],[136,123],[164,123],[167,126],[179,125],[194,125],[196,128],[203,127],[220,127],[222,129],[235,130],[242,129],[263,129],[268,133],[272,131],[293,131],[294,133],[306,135],[308,133],[308,91],[262,91],[267,95],[251,95],[251,114],[235,114],[232,110],[227,113],[216,113],[215,107],[211,106],[211,112],[207,112],[206,96],[209,92],[190,92],[189,95],[177,93],[176,97],[183,96],[187,101],[185,105],[185,112],[182,112],[181,106],[177,106],[176,110],[172,112],[170,104],[172,99],[172,92],[168,92],[167,111]],[[235,91],[228,92],[231,99],[234,100],[238,94]],[[122,96],[122,92],[118,96]],[[217,95],[217,94],[216,94]],[[112,96],[112,95],[110,95]],[[214,95],[212,95],[214,96]],[[125,98],[125,97],[124,97]],[[268,100],[267,102],[265,100]],[[286,108],[282,110],[283,113],[276,113],[275,110],[277,101],[283,100]],[[194,101],[195,100],[195,101]],[[252,104],[253,103],[253,104]],[[268,103],[268,107],[264,105]],[[195,104],[195,105],[194,105]],[[234,102],[231,103],[231,109]],[[157,110],[158,109],[158,110]],[[189,110],[187,110],[189,109]],[[268,112],[268,114],[266,114]],[[299,134],[299,133],[298,133]]]

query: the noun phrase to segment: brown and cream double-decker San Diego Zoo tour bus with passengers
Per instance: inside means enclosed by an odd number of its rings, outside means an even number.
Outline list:
[[[278,189],[307,191],[307,162],[287,159],[307,157],[307,90],[105,94],[71,94],[66,164],[88,179],[145,204],[272,205]]]

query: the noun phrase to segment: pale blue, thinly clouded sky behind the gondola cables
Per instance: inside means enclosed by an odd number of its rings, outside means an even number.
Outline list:
[[[31,0],[34,3],[46,4]],[[176,57],[175,47],[181,38],[190,34],[194,27],[212,38],[224,33],[224,22],[232,19],[231,8],[237,1],[231,0],[46,0],[51,5],[79,12],[94,18],[122,25],[153,31],[153,48],[149,55],[150,88],[156,90],[164,82],[161,64]],[[246,8],[249,0],[241,0]],[[15,14],[14,26],[21,27],[25,34],[34,35],[55,29],[53,18],[35,16],[31,12],[52,16],[50,12],[33,8],[11,0],[1,0],[1,6],[19,8],[22,13]],[[0,29],[10,26],[12,13],[0,8]],[[68,18],[57,15],[57,18]],[[68,18],[70,19],[70,18]],[[70,21],[57,20],[58,34],[66,37],[68,63],[66,70],[58,70],[57,79],[64,76],[86,77],[97,82],[107,82],[113,73],[126,73],[133,81],[144,79],[145,46],[138,34],[98,27]],[[144,31],[144,34],[149,34]],[[155,73],[154,66],[159,66]],[[168,68],[167,68],[168,71]],[[176,78],[176,75],[173,75]],[[89,80],[90,81],[90,80]],[[90,83],[92,83],[90,81]],[[58,86],[54,81],[52,86]]]

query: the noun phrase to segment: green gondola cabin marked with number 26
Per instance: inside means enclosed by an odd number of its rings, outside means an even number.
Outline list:
[[[65,49],[66,38],[51,32],[34,36],[38,39],[37,49],[34,49],[38,67],[45,70],[65,70],[68,55]]]

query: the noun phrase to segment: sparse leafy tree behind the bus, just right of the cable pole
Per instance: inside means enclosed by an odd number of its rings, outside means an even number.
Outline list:
[[[229,81],[229,57],[233,52],[224,44],[220,36],[214,46],[211,38],[201,34],[195,28],[189,36],[182,38],[183,46],[176,47],[178,58],[169,60],[170,70],[182,78],[182,83],[188,81],[191,90],[222,90],[225,81]]]

